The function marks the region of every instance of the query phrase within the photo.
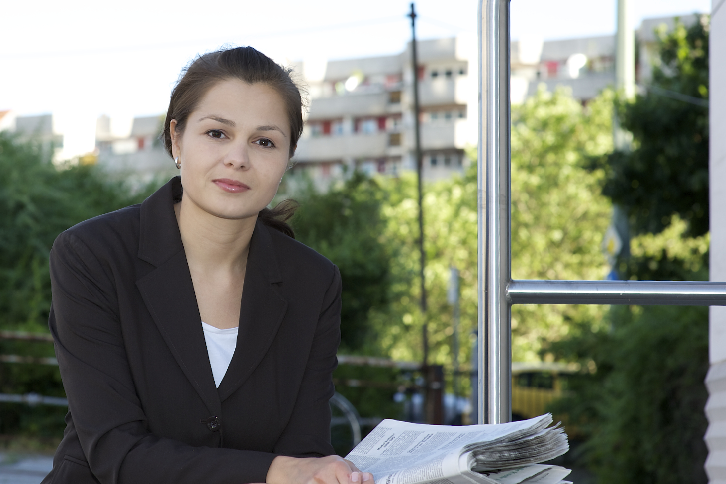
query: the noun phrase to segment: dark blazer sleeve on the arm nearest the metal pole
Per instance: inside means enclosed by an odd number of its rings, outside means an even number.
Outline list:
[[[337,266],[325,292],[317,330],[290,422],[274,452],[287,456],[330,456],[330,398],[340,344],[340,271]]]

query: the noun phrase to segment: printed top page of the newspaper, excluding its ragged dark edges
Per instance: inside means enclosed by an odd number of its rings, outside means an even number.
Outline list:
[[[372,472],[376,484],[518,484],[534,474],[522,475],[522,479],[514,483],[511,479],[497,480],[497,472],[490,472],[491,476],[473,472],[470,470],[473,465],[471,449],[477,443],[505,443],[507,437],[521,438],[538,433],[550,422],[552,416],[549,415],[507,424],[462,427],[386,419],[356,445],[346,459],[359,469]],[[462,459],[464,456],[466,458]],[[543,469],[537,472],[541,473]]]

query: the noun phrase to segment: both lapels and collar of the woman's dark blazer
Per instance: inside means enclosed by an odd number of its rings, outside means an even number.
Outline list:
[[[287,301],[277,287],[282,275],[271,229],[258,220],[250,239],[237,347],[219,389],[215,388],[192,275],[174,214],[174,202],[181,200],[181,194],[181,180],[174,177],[142,203],[139,258],[156,269],[136,281],[136,286],[176,362],[212,415],[219,415],[221,401],[245,382],[269,350],[287,312]]]

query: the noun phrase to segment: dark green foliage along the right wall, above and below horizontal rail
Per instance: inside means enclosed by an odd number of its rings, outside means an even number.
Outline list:
[[[619,262],[630,279],[708,278],[707,110],[663,95],[706,97],[708,31],[706,17],[661,31],[653,81],[671,92],[621,104],[634,149],[605,157],[603,192],[640,234]],[[574,327],[548,349],[590,369],[555,408],[587,436],[584,462],[601,483],[705,483],[706,308],[613,307],[607,320],[595,331]]]

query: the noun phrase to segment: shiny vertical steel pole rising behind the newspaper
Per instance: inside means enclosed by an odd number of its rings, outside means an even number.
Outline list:
[[[479,7],[478,422],[511,420],[509,0]]]

